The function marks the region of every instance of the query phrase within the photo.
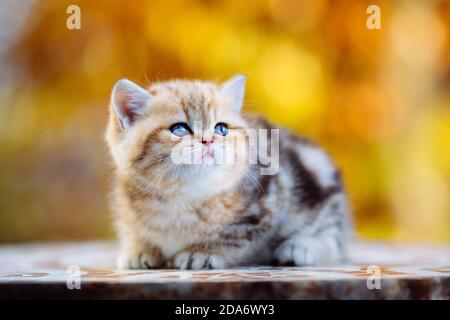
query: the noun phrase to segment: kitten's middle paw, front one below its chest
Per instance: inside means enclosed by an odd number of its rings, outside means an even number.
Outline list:
[[[223,269],[225,258],[216,253],[182,251],[175,256],[173,264],[182,270]]]

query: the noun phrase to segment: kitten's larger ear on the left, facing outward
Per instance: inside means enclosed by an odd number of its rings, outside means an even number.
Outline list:
[[[111,104],[123,129],[128,129],[150,102],[150,94],[127,79],[114,85]]]

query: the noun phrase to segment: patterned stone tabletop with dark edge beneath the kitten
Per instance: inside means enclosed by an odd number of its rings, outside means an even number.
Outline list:
[[[346,265],[180,271],[114,269],[110,242],[0,247],[0,298],[449,299],[450,249],[356,242]],[[71,267],[72,266],[72,267]],[[76,267],[74,267],[76,266]],[[369,267],[372,266],[372,267]],[[81,289],[68,288],[77,283]],[[380,271],[380,289],[371,270]],[[369,278],[370,277],[370,278]]]

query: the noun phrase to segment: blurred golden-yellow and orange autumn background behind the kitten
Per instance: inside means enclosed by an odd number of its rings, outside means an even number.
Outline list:
[[[81,30],[66,27],[71,4]],[[234,73],[247,110],[333,155],[357,235],[450,243],[444,0],[0,0],[0,242],[114,237],[103,134],[117,79]]]

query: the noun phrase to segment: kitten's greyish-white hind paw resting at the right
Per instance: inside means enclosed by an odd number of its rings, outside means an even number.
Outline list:
[[[283,265],[319,266],[330,265],[340,260],[341,254],[333,240],[316,238],[295,238],[282,243],[275,251],[275,257]]]

